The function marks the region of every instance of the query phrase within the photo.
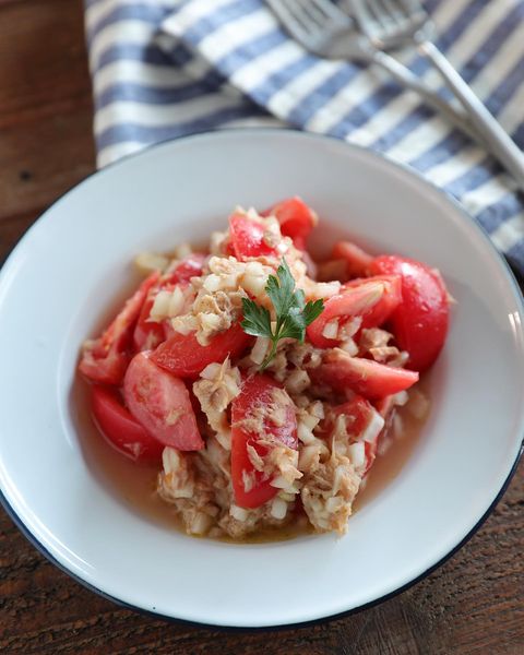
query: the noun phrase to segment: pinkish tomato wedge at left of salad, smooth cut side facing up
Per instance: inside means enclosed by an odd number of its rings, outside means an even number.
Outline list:
[[[153,364],[148,352],[131,360],[123,397],[133,417],[164,445],[180,451],[204,448],[184,383]]]

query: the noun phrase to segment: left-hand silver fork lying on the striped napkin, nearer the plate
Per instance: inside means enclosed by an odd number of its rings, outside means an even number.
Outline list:
[[[453,107],[407,67],[382,52],[355,31],[353,19],[331,0],[265,0],[281,24],[306,50],[326,59],[352,59],[377,63],[401,85],[418,93],[428,105],[458,129],[481,143],[462,107]]]

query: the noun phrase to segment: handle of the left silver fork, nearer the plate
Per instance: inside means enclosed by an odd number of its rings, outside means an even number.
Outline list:
[[[441,98],[439,94],[432,88],[426,86],[424,82],[417,78],[407,67],[397,61],[391,55],[383,52],[382,50],[373,50],[370,53],[369,59],[386,70],[392,78],[394,78],[403,86],[410,88],[418,93],[428,105],[436,109],[439,114],[442,114],[454,123],[460,130],[465,132],[474,141],[477,141],[481,145],[486,145],[481,132],[477,132],[468,120],[467,114],[460,107],[455,109],[446,100]]]

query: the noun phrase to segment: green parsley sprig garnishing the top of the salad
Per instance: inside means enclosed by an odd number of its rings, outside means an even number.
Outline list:
[[[322,300],[306,302],[302,289],[295,290],[295,279],[285,259],[276,270],[276,277],[275,275],[267,277],[265,293],[275,310],[274,332],[270,311],[250,298],[242,298],[243,321],[240,323],[247,334],[265,336],[271,341],[271,350],[260,366],[261,371],[275,356],[281,338],[296,338],[303,343],[306,327],[324,310]]]

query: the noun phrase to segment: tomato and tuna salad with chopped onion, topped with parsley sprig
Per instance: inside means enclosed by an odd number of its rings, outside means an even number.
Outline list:
[[[446,337],[441,275],[350,241],[315,262],[317,224],[293,198],[236,209],[205,250],[140,254],[143,281],[83,346],[97,428],[158,466],[188,534],[345,533],[398,407],[428,405],[416,384]]]

